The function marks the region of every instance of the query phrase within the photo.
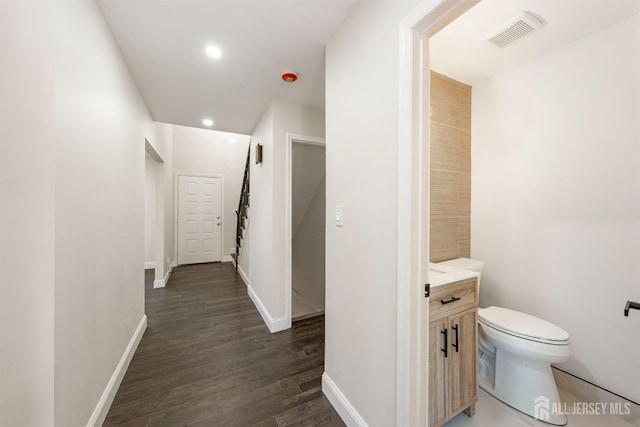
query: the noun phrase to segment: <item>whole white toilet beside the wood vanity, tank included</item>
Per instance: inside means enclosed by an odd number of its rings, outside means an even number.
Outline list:
[[[458,258],[438,263],[482,273],[484,263]],[[480,277],[478,277],[478,286]],[[501,307],[478,309],[478,383],[507,405],[553,425],[566,425],[551,363],[569,360],[569,334],[537,317]]]

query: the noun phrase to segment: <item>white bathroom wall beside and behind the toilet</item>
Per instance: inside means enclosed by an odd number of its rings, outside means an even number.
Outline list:
[[[638,16],[473,88],[481,306],[564,328],[562,369],[640,401]]]

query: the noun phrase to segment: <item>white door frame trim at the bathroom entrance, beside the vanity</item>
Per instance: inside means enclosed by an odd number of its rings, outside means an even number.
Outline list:
[[[479,1],[426,0],[400,23],[398,426],[429,419],[429,38]]]

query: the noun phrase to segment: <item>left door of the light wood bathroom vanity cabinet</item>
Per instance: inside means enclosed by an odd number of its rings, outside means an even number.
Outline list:
[[[442,425],[447,421],[447,358],[450,352],[447,319],[429,324],[429,425]],[[444,332],[444,333],[443,333]],[[447,340],[447,342],[445,342]]]

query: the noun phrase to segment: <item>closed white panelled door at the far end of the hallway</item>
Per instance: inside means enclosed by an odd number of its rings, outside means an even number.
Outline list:
[[[222,178],[178,176],[178,264],[222,260]]]

